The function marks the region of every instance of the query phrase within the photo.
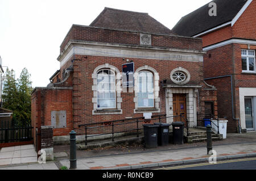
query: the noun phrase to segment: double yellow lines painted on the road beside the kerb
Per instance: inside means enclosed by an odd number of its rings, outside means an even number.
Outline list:
[[[193,164],[193,165],[166,167],[166,168],[160,168],[160,169],[154,169],[154,170],[184,169],[184,168],[189,168],[189,167],[198,167],[198,166],[207,166],[207,165],[217,165],[217,164],[221,164],[221,163],[244,162],[244,161],[252,161],[252,160],[256,160],[256,158],[232,159],[232,160],[229,160],[229,161],[218,161],[217,163],[198,163],[198,164]]]

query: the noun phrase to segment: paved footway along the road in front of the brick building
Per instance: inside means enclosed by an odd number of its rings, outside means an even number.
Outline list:
[[[206,145],[206,142],[183,145],[169,144],[152,149],[145,149],[142,145],[120,145],[114,148],[77,150],[77,169],[128,170],[204,162],[208,161],[211,156],[207,154]],[[256,157],[256,132],[227,134],[226,139],[213,141],[213,150],[216,150],[217,161],[229,158]],[[55,161],[53,162],[11,164],[0,166],[0,170],[57,170],[63,166],[69,168],[69,145],[56,145],[54,151]]]

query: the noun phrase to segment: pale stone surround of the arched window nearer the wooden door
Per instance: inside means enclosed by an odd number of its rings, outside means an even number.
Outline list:
[[[139,71],[142,70],[147,70],[147,71],[151,71],[154,75],[154,107],[149,107],[149,108],[139,108],[138,107],[138,73]],[[138,68],[135,71],[134,74],[134,103],[135,103],[135,109],[134,109],[134,113],[144,113],[144,112],[160,112],[160,108],[159,108],[159,102],[160,102],[160,98],[159,98],[159,74],[158,72],[154,69],[151,68],[150,66],[141,66],[140,68]]]

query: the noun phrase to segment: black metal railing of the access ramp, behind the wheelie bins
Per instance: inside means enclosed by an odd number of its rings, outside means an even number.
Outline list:
[[[132,131],[137,131],[137,137],[139,137],[139,130],[143,129],[143,126],[139,127],[139,123],[144,122],[144,123],[150,123],[151,121],[154,120],[158,120],[159,123],[161,123],[162,119],[167,119],[167,118],[171,118],[171,117],[180,117],[180,121],[182,119],[184,119],[186,121],[186,128],[187,128],[187,134],[188,134],[188,120],[185,119],[185,117],[180,114],[177,116],[166,116],[166,114],[161,114],[161,115],[153,115],[151,119],[144,119],[144,117],[135,117],[135,118],[129,118],[129,119],[121,119],[121,120],[113,120],[113,121],[103,121],[103,122],[99,122],[99,123],[89,123],[89,124],[80,124],[80,127],[85,127],[85,145],[87,145],[88,141],[87,138],[88,137],[95,137],[95,136],[102,136],[102,135],[106,135],[106,134],[112,134],[112,141],[114,141],[114,134],[115,133],[124,133],[124,132],[132,132]],[[127,124],[136,124],[136,128],[131,128],[131,129],[126,129],[123,131],[115,131],[115,127],[119,126],[119,125],[127,125]],[[93,125],[96,125],[93,127]],[[98,126],[97,126],[98,125]],[[106,128],[106,127],[112,127],[112,131],[108,132],[108,133],[101,133],[101,134],[90,134],[88,135],[88,129],[98,129],[98,128]]]

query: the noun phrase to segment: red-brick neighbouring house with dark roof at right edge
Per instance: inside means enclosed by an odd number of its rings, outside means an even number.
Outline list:
[[[184,16],[172,29],[203,39],[205,81],[217,88],[218,116],[228,132],[256,130],[256,1],[216,0]]]

